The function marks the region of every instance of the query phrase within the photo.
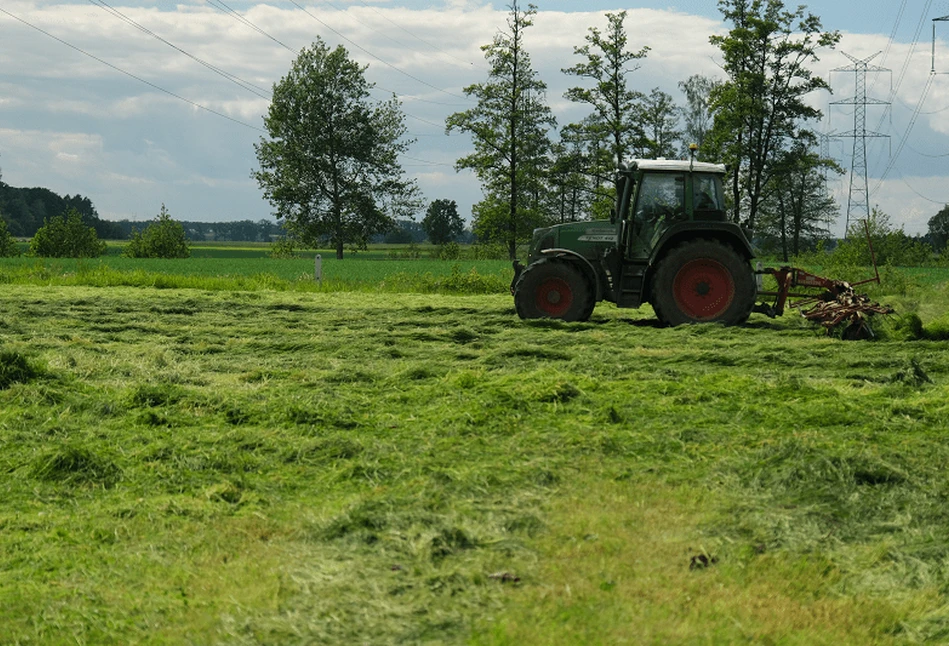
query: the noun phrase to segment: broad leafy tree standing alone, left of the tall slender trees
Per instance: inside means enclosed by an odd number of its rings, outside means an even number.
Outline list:
[[[317,39],[274,85],[270,138],[254,147],[253,176],[276,216],[304,245],[328,240],[339,259],[344,245],[365,247],[418,208],[399,164],[412,143],[401,107],[395,98],[370,102],[365,69]]]

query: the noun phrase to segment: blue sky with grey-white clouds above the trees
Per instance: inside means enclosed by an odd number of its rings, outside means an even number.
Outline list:
[[[714,0],[535,0],[525,44],[560,126],[587,111],[563,98],[579,84],[561,72],[607,12],[627,11],[630,49],[650,48],[630,85],[678,103],[692,74],[722,78],[709,36],[727,31]],[[791,0],[788,6],[796,6]],[[89,197],[100,217],[146,221],[162,204],[179,220],[272,219],[251,178],[270,91],[317,37],[368,65],[374,100],[402,102],[416,143],[403,157],[429,200],[470,218],[477,179],[456,172],[470,138],[445,118],[473,106],[463,88],[487,79],[480,47],[505,29],[508,1],[193,0],[181,4],[0,0],[0,172],[13,186]],[[854,128],[855,74],[845,56],[873,56],[867,74],[870,204],[908,234],[949,203],[949,0],[814,0],[808,10],[842,40],[812,66],[833,94],[808,100],[821,132]],[[935,41],[933,27],[935,26]],[[933,43],[935,42],[935,47]],[[884,71],[885,70],[885,71]],[[834,104],[835,101],[844,101]],[[885,135],[885,136],[882,136]],[[830,180],[842,234],[854,139],[831,137],[848,172]],[[858,175],[856,186],[862,186]],[[417,219],[421,219],[420,213]],[[856,216],[855,216],[856,217]]]

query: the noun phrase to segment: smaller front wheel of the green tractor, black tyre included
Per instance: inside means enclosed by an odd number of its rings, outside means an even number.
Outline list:
[[[514,286],[514,307],[522,319],[585,321],[594,305],[589,282],[568,262],[545,258],[531,263]]]

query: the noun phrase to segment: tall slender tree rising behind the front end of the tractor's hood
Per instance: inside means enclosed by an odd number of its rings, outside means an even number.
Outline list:
[[[474,152],[455,167],[473,170],[482,183],[485,201],[475,208],[475,230],[479,236],[500,237],[514,259],[517,241],[546,218],[537,198],[544,192],[549,161],[547,133],[556,120],[545,102],[547,85],[524,48],[524,32],[537,7],[522,10],[514,0],[509,9],[507,31],[481,48],[490,64],[488,80],[464,90],[477,105],[449,116],[446,130],[470,133],[474,142]],[[479,218],[489,221],[479,223]]]

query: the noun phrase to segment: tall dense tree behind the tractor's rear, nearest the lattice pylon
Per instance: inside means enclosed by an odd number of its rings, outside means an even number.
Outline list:
[[[729,32],[709,40],[722,51],[728,78],[712,91],[713,152],[733,168],[733,217],[754,229],[762,203],[782,170],[782,153],[794,142],[812,143],[808,122],[821,112],[806,100],[827,82],[807,67],[840,33],[826,32],[805,7],[783,0],[719,0]]]

